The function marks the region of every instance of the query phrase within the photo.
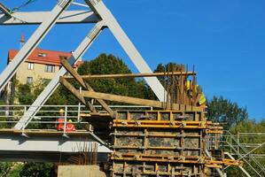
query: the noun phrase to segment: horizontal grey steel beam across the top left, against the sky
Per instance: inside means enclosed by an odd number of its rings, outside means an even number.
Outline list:
[[[38,25],[43,23],[51,12],[15,12],[12,16],[0,14],[0,25]],[[57,24],[96,23],[99,19],[91,11],[63,12]]]

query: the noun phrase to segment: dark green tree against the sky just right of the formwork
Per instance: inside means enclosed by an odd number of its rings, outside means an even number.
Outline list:
[[[214,96],[207,104],[207,118],[214,122],[224,123],[223,127],[229,129],[239,122],[248,119],[246,108],[241,108],[222,96]]]

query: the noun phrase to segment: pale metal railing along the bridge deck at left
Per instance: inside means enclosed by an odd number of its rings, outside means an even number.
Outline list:
[[[12,128],[18,121],[23,117],[28,108],[32,105],[0,105],[0,127],[10,127]],[[32,121],[29,122],[30,125],[54,125],[58,123],[57,119],[61,116],[59,115],[59,110],[63,109],[65,111],[65,127],[68,119],[73,120],[73,124],[88,124],[88,121],[82,120],[82,115],[90,114],[90,111],[81,104],[78,105],[43,105],[37,106],[40,108],[39,112],[32,117]],[[98,112],[104,113],[101,105],[94,105]],[[149,106],[140,105],[110,105],[113,110],[152,110]],[[26,128],[26,127],[24,127]]]

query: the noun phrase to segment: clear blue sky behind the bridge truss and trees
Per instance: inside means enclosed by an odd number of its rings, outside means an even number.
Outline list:
[[[26,0],[2,0],[10,7]],[[51,10],[56,0],[37,0],[21,11]],[[78,1],[82,2],[82,1]],[[265,1],[263,0],[105,0],[136,48],[154,69],[159,63],[195,65],[208,98],[224,96],[247,108],[250,118],[265,118]],[[19,48],[36,26],[0,26],[0,71],[7,51]],[[40,48],[74,50],[91,25],[54,27]],[[106,29],[84,58],[101,52],[136,68]]]

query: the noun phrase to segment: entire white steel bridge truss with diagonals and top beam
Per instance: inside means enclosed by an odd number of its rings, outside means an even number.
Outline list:
[[[114,37],[120,42],[123,50],[126,51],[131,61],[136,65],[136,68],[140,73],[152,73],[151,68],[145,62],[141,54],[136,50],[134,44],[129,40],[128,35],[122,30],[117,20],[113,17],[113,14],[107,9],[102,0],[85,0],[85,3],[89,5],[91,11],[66,11],[67,7],[73,3],[72,0],[60,0],[55,5],[51,12],[15,12],[12,15],[7,14],[6,11],[0,8],[4,14],[0,14],[0,25],[31,25],[41,24],[35,31],[35,33],[28,39],[25,45],[19,50],[19,53],[9,64],[4,72],[0,75],[0,91],[4,89],[4,86],[8,81],[12,79],[12,76],[16,73],[19,65],[21,65],[27,57],[32,53],[37,45],[43,40],[43,37],[47,35],[51,27],[56,23],[96,23],[96,26],[92,28],[90,34],[85,37],[79,47],[74,51],[72,57],[69,60],[71,65],[74,65],[75,61],[80,58],[83,53],[90,48],[92,42],[95,41],[97,36],[107,27],[113,33]],[[48,86],[43,90],[40,96],[37,97],[34,104],[27,110],[22,119],[16,124],[15,128],[23,129],[27,127],[28,122],[38,112],[40,105],[43,105],[49,96],[58,87],[58,78],[66,73],[66,70],[62,67],[56,77],[54,77]],[[154,94],[160,99],[165,100],[165,89],[161,85],[160,81],[155,78],[144,78],[147,84],[151,87]]]

